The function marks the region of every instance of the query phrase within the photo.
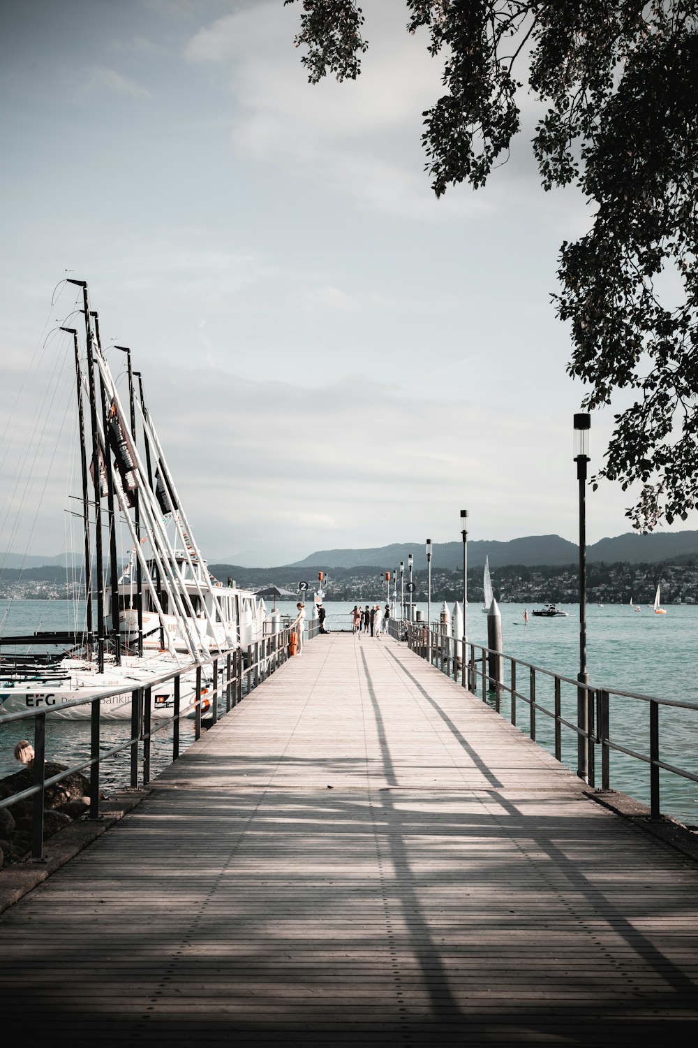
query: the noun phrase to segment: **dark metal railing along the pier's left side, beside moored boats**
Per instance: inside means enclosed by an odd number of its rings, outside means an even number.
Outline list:
[[[309,638],[317,634],[317,624],[307,624]],[[173,729],[173,762],[180,755],[180,722],[182,719],[194,719],[195,741],[201,738],[201,729],[217,723],[226,713],[229,713],[246,695],[249,695],[263,680],[283,665],[289,656],[291,631],[288,627],[280,632],[269,634],[249,645],[247,648],[235,648],[219,652],[218,655],[198,662],[189,663],[173,673],[163,674],[149,679],[135,690],[131,687],[115,687],[105,691],[98,696],[85,699],[73,699],[54,706],[21,711],[14,714],[2,714],[2,724],[33,721],[32,761],[33,783],[26,789],[0,800],[1,808],[12,808],[20,801],[32,799],[31,813],[31,854],[33,863],[44,859],[44,809],[45,791],[68,776],[76,771],[89,769],[90,804],[87,817],[90,821],[99,820],[99,768],[110,757],[126,749],[131,750],[130,786],[136,789],[139,785],[147,786],[151,781],[151,742],[158,733]],[[204,672],[207,671],[204,677]],[[194,677],[194,686],[192,686]],[[173,681],[173,716],[158,718],[153,723],[152,699],[153,691],[162,684]],[[130,738],[107,750],[100,748],[100,706],[105,699],[115,696],[131,696],[131,732]],[[184,703],[184,705],[182,704]],[[46,722],[51,715],[60,715],[66,709],[90,705],[90,757],[64,771],[46,778]],[[204,718],[204,715],[206,717]],[[142,747],[142,749],[141,749]]]

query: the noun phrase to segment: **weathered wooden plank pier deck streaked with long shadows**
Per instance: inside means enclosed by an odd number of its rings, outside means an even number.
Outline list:
[[[405,645],[318,637],[0,916],[3,1028],[695,1046],[698,867],[583,790]]]

